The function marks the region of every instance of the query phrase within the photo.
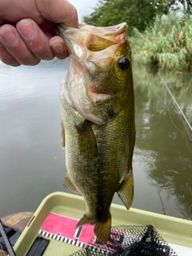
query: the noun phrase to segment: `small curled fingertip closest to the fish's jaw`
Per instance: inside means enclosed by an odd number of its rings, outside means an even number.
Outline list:
[[[53,50],[55,57],[59,59],[67,58],[69,55],[62,38],[58,36],[50,38],[50,48]]]

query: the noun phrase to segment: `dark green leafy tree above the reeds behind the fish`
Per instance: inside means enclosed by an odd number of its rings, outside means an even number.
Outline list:
[[[153,25],[155,17],[173,10],[192,10],[192,0],[98,0],[94,12],[83,17],[83,22],[94,26],[114,26],[121,22],[140,32]]]

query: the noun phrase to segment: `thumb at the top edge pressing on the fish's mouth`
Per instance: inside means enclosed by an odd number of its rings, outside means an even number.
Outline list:
[[[54,23],[64,22],[66,26],[78,27],[78,13],[75,7],[67,0],[36,0],[38,11],[46,20]],[[51,10],[51,11],[50,11]]]

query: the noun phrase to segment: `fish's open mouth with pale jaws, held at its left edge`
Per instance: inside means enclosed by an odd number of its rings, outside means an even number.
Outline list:
[[[100,53],[102,54],[100,56],[102,59],[104,54],[102,50],[108,48],[109,52],[105,52],[105,54],[108,55],[111,51],[110,58],[113,58],[115,49],[126,40],[128,26],[126,22],[122,22],[116,26],[109,27],[79,24],[78,28],[73,28],[59,23],[55,28],[57,34],[66,43],[66,48],[70,54],[75,54],[81,61],[89,55],[89,58],[92,57],[92,60],[95,60],[95,58],[97,59],[99,57],[98,54]],[[86,51],[90,53],[87,55]],[[99,60],[100,62],[101,59]]]

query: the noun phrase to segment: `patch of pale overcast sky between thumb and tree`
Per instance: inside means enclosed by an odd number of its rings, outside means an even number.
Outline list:
[[[82,23],[82,16],[91,14],[94,10],[91,7],[95,7],[98,0],[69,0],[78,10],[78,22]]]

